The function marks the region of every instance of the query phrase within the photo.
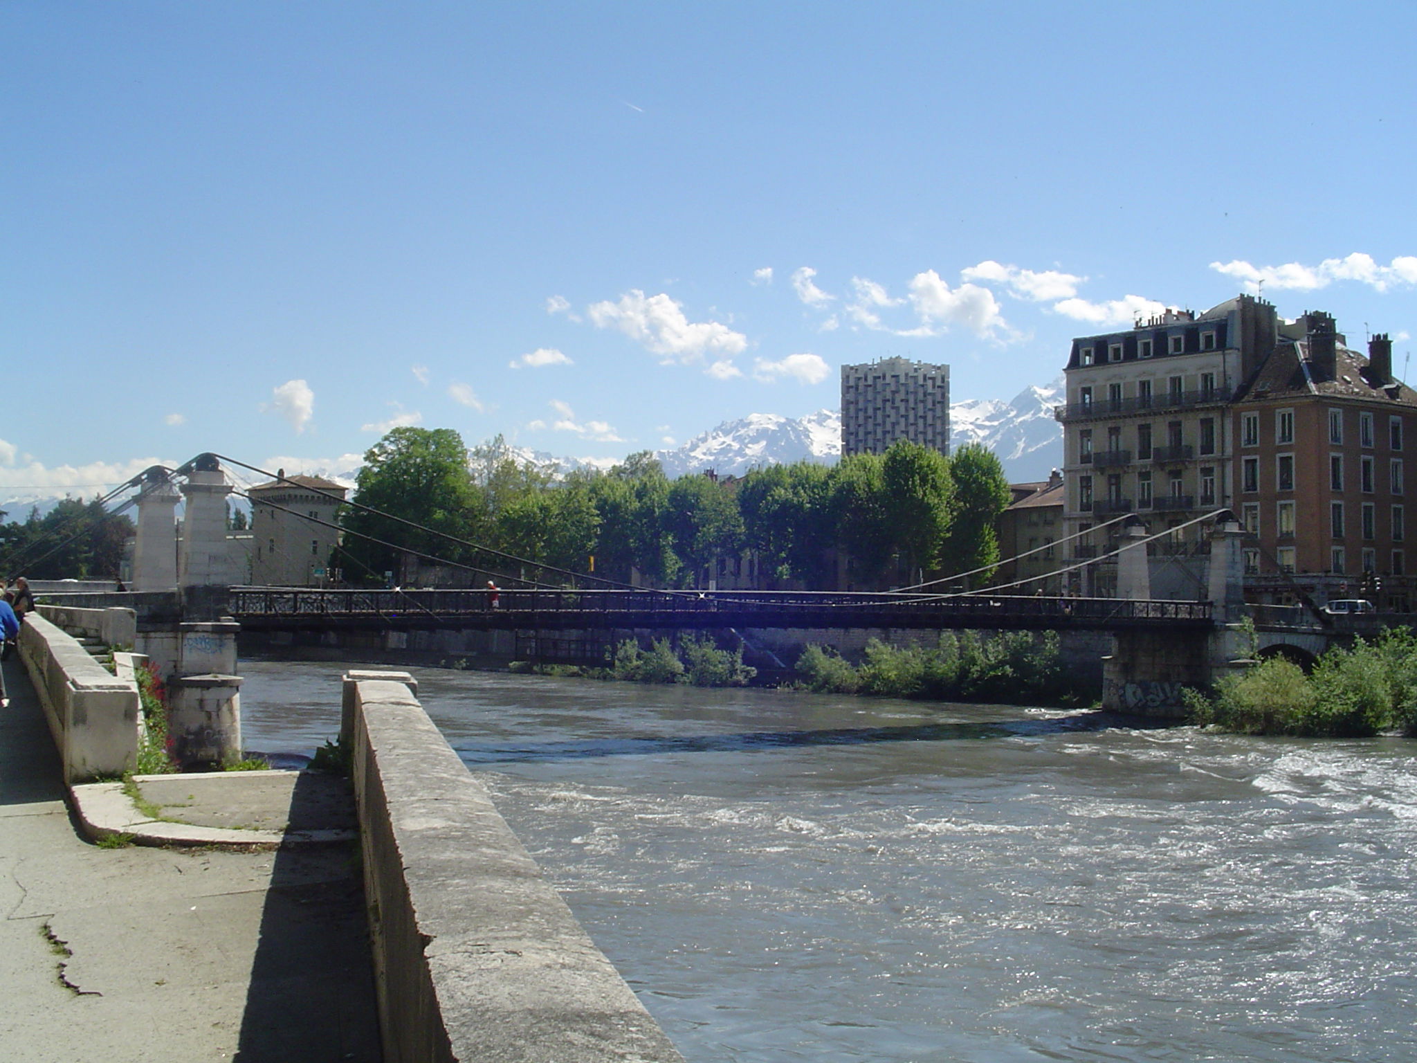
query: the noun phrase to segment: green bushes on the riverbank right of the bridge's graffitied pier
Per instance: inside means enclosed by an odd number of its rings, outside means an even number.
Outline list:
[[[1335,646],[1304,670],[1280,658],[1189,692],[1197,724],[1243,734],[1353,738],[1399,729],[1417,736],[1417,636],[1389,628],[1373,641]]]

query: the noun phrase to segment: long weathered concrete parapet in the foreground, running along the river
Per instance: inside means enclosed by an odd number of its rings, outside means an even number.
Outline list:
[[[344,687],[388,1063],[682,1063],[401,673]]]

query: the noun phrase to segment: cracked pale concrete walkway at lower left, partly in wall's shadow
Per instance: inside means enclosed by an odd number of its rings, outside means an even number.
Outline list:
[[[24,669],[3,668],[0,1059],[378,1060],[354,849],[88,842]],[[319,802],[302,802],[299,780],[252,785],[242,774],[200,789],[159,784],[154,794],[181,799],[149,798],[163,805],[157,822],[347,826],[315,822]]]

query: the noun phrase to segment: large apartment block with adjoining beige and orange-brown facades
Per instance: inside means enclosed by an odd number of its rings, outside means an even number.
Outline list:
[[[1331,316],[1287,322],[1241,295],[1077,339],[1066,378],[1063,532],[1084,533],[1070,560],[1115,549],[1124,517],[1175,529],[1151,549],[1152,592],[1193,600],[1203,517],[1229,509],[1251,532],[1253,600],[1359,597],[1362,584],[1406,609],[1401,448],[1417,395],[1393,380],[1384,336],[1365,359]],[[1090,567],[1071,585],[1108,595],[1115,570]]]

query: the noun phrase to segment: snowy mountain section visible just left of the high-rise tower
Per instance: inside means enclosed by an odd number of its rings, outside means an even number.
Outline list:
[[[724,421],[673,451],[657,451],[655,456],[669,478],[704,469],[741,476],[754,465],[799,461],[835,465],[842,456],[842,415],[836,410],[818,410],[799,418],[748,414]]]

